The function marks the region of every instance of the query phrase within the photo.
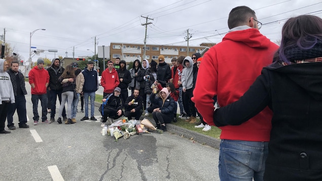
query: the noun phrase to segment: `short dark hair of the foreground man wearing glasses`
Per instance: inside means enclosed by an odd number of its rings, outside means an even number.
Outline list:
[[[232,29],[237,26],[246,25],[251,17],[256,18],[254,10],[246,6],[238,6],[229,13],[228,27],[229,29]]]

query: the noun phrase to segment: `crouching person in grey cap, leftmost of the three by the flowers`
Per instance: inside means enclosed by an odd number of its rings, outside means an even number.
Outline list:
[[[114,89],[114,93],[106,95],[102,101],[105,102],[104,104],[104,109],[103,109],[103,121],[102,124],[100,125],[101,127],[105,126],[106,121],[108,120],[109,117],[109,123],[113,123],[113,119],[118,119],[120,118],[124,113],[122,111],[122,103],[121,103],[121,89],[119,87]]]

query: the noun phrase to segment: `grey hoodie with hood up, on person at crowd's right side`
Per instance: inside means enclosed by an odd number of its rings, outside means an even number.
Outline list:
[[[189,67],[186,66],[185,62],[189,61]],[[184,59],[183,66],[185,67],[182,70],[181,81],[182,81],[182,88],[184,89],[191,89],[193,86],[193,61],[190,56],[187,56]]]

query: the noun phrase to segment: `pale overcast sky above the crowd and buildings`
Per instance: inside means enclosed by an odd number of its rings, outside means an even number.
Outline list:
[[[92,56],[94,37],[97,46],[111,42],[144,43],[148,20],[147,44],[187,45],[187,29],[192,34],[189,45],[203,42],[219,43],[229,30],[228,14],[236,6],[255,10],[263,23],[260,31],[271,41],[280,39],[281,27],[288,19],[302,14],[322,17],[322,1],[317,0],[2,0],[0,2],[0,35],[6,28],[6,43],[10,43],[24,60],[29,57],[30,32],[38,28],[31,38],[31,46],[38,49],[57,49],[58,55],[73,57]],[[96,49],[97,51],[97,49]],[[45,52],[38,57],[54,58]]]

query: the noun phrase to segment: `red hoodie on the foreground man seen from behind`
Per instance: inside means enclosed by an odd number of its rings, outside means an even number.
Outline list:
[[[211,47],[200,64],[192,101],[209,125],[213,123],[213,96],[220,106],[239,99],[272,63],[278,46],[258,29],[229,32],[223,42]],[[221,139],[269,141],[272,112],[266,107],[261,113],[238,126],[223,126]]]

